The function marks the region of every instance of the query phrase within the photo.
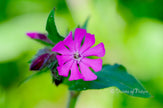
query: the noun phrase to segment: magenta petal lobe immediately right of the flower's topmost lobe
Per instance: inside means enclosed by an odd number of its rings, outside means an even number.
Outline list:
[[[81,53],[84,52],[85,50],[93,46],[94,44],[95,44],[95,36],[90,33],[87,33],[85,36],[84,43],[80,49],[80,52]]]

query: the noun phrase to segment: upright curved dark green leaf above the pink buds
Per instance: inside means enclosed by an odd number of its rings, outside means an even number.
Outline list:
[[[47,19],[47,24],[46,24],[46,30],[48,32],[48,38],[56,44],[59,41],[62,41],[64,37],[60,36],[60,34],[57,31],[57,27],[55,25],[55,20],[54,20],[54,13],[55,13],[55,9],[53,9],[49,14],[49,17]]]

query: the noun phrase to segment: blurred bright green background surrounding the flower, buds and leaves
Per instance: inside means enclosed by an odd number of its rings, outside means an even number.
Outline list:
[[[163,107],[162,0],[0,0],[0,108],[65,108],[67,86],[52,84],[50,72],[18,87],[31,75],[27,63],[43,46],[26,32],[45,32],[56,7],[60,34],[90,16],[88,32],[104,42],[104,63],[120,63],[153,95],[135,98],[111,88],[82,92],[76,108]]]

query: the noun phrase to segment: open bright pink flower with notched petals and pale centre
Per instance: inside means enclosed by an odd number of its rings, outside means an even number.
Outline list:
[[[103,43],[92,47],[94,44],[95,36],[81,28],[76,28],[74,39],[72,32],[70,32],[63,41],[56,44],[52,51],[59,53],[56,56],[59,64],[57,67],[59,75],[68,77],[71,70],[70,81],[78,79],[84,81],[96,80],[97,76],[89,68],[92,68],[95,72],[100,71],[102,69],[102,59],[89,59],[87,57],[103,57],[105,48]]]

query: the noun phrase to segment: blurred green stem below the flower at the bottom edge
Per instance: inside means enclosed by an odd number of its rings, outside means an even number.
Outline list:
[[[67,108],[75,108],[79,94],[79,91],[70,91],[70,97]]]

